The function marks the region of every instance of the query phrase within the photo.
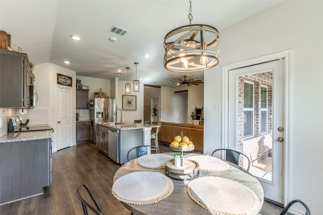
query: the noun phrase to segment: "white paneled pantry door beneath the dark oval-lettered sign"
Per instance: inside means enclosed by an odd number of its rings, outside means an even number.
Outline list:
[[[57,88],[57,150],[72,146],[72,90]]]

